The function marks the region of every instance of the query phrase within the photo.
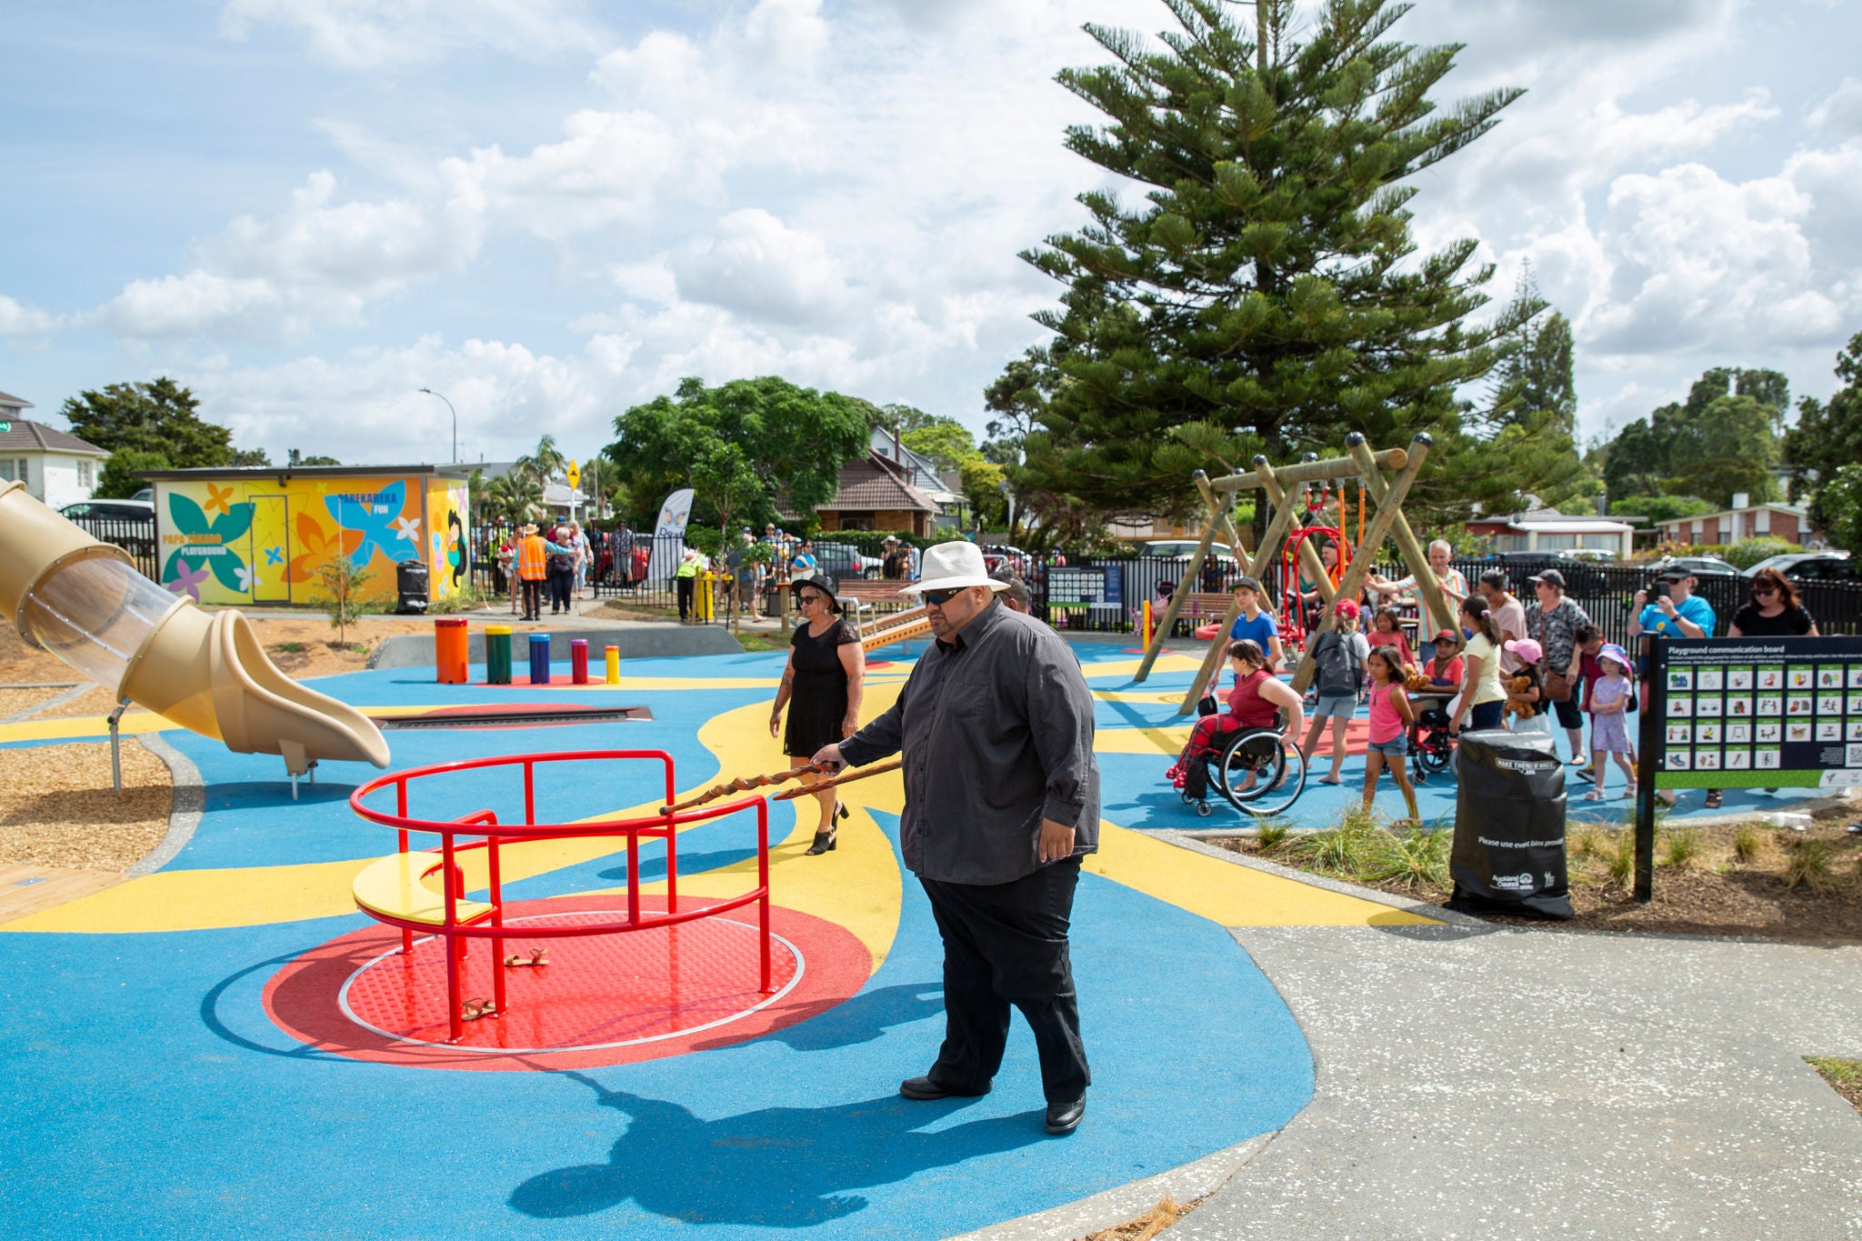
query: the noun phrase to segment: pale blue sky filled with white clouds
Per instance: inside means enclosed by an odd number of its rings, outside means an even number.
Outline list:
[[[1054,71],[1154,0],[6,0],[0,389],[171,374],[240,445],[572,454],[680,376],[981,424],[1097,169]],[[1827,396],[1862,331],[1853,0],[1419,0],[1452,93],[1529,95],[1419,179],[1575,324],[1583,428],[1709,365]],[[1450,93],[1445,91],[1445,97]]]

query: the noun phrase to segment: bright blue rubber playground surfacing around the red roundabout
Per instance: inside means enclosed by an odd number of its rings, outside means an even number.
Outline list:
[[[711,657],[637,661],[629,672],[773,675],[778,666],[780,657]],[[443,703],[469,687],[356,674],[330,688],[359,703]],[[687,783],[717,767],[696,744],[698,724],[763,696],[629,701],[654,707],[650,744],[678,755]],[[402,733],[395,763],[648,744],[627,741],[642,735],[629,727]],[[341,778],[292,806],[276,759],[169,739],[210,785],[196,843],[173,865],[382,852],[380,830],[343,806]],[[879,819],[896,848],[896,821]],[[681,873],[735,856],[681,837]],[[611,884],[613,867],[538,876],[521,895]],[[760,1040],[585,1072],[415,1070],[292,1042],[264,1016],[264,982],[361,925],[0,934],[6,1235],[942,1237],[1279,1129],[1313,1090],[1292,1016],[1221,927],[1091,874],[1073,941],[1095,1087],[1069,1139],[1043,1133],[1020,1018],[994,1094],[897,1098],[899,1079],[924,1072],[942,1038],[940,947],[909,878],[892,951],[847,1003]]]

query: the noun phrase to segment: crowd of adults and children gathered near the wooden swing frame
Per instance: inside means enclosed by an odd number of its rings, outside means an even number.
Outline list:
[[[1633,798],[1637,768],[1627,716],[1646,698],[1646,687],[1639,692],[1642,670],[1637,662],[1624,646],[1603,640],[1594,620],[1570,597],[1558,569],[1542,569],[1529,579],[1527,603],[1512,594],[1503,569],[1490,569],[1469,586],[1449,556],[1445,541],[1428,547],[1430,569],[1456,608],[1452,629],[1411,646],[1396,605],[1408,603],[1411,612],[1419,612],[1417,579],[1367,575],[1361,597],[1341,599],[1333,627],[1311,636],[1307,651],[1315,677],[1294,709],[1261,690],[1261,679],[1287,670],[1290,661],[1268,592],[1253,577],[1238,577],[1233,582],[1236,620],[1227,634],[1236,688],[1227,696],[1225,714],[1205,718],[1192,731],[1171,778],[1186,794],[1201,796],[1207,780],[1201,768],[1216,757],[1223,737],[1238,727],[1285,724],[1287,744],[1298,746],[1311,763],[1329,726],[1329,770],[1318,783],[1337,785],[1348,748],[1346,726],[1361,707],[1369,707],[1365,806],[1372,804],[1378,776],[1387,768],[1415,819],[1404,759],[1423,726],[1445,727],[1449,735],[1493,727],[1538,731],[1551,737],[1555,748],[1562,735],[1575,776],[1592,785],[1586,800],[1611,796],[1612,765],[1624,774],[1620,796]],[[1326,545],[1322,558],[1331,573],[1337,551]],[[1691,573],[1670,569],[1637,592],[1629,638],[1642,633],[1713,636],[1719,618],[1694,586]],[[1162,601],[1167,601],[1169,588],[1160,588]],[[1307,625],[1315,625],[1324,605],[1318,582],[1302,575],[1294,590]],[[1776,569],[1761,569],[1750,582],[1750,601],[1737,610],[1726,633],[1735,638],[1815,636],[1817,627],[1791,582]],[[1205,711],[1210,709],[1212,700],[1205,700]],[[1674,800],[1668,791],[1661,796],[1670,804]],[[1706,806],[1715,809],[1720,804],[1722,791],[1707,789]]]

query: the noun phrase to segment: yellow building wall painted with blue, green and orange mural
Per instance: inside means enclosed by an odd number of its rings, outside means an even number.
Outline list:
[[[423,489],[425,482],[425,489]],[[425,493],[425,502],[423,502]],[[317,603],[337,556],[395,601],[395,566],[426,564],[428,597],[469,582],[464,478],[287,478],[155,484],[162,584],[197,603]]]

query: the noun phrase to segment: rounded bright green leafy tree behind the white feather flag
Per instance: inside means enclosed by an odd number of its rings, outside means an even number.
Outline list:
[[[810,514],[840,487],[840,467],[868,450],[875,406],[840,393],[817,393],[776,376],[732,380],[706,387],[681,380],[678,393],[657,396],[614,419],[614,443],[603,456],[641,504],[657,504],[676,487],[698,491],[695,508],[717,521],[715,499],[698,486],[695,469],[732,478],[721,445],[732,445],[756,478],[758,495],[732,514],[754,523],[775,521],[778,506]],[[735,458],[732,458],[735,460]],[[639,514],[642,519],[650,512]]]

